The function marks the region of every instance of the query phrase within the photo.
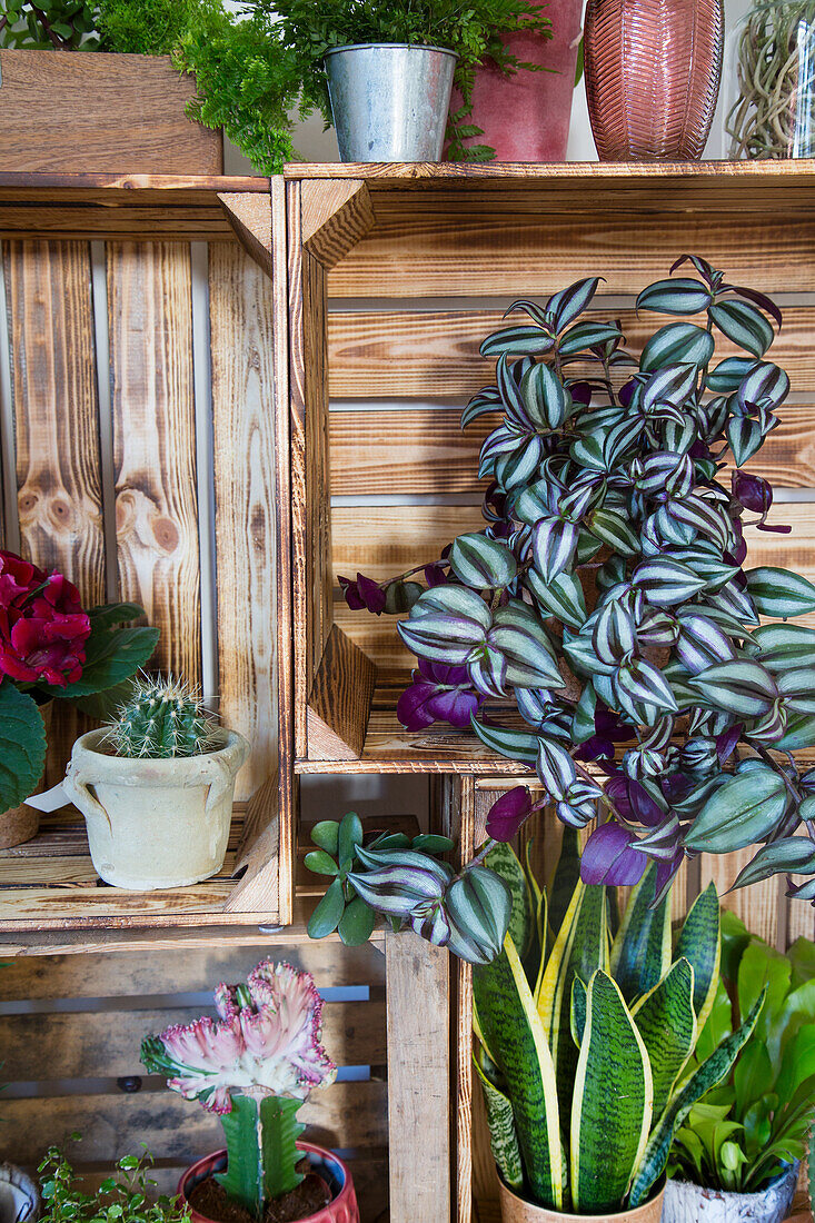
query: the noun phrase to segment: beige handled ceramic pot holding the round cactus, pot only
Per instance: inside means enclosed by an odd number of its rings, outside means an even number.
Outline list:
[[[175,759],[127,759],[102,748],[106,731],[73,745],[65,790],[86,818],[91,857],[116,888],[184,888],[224,865],[235,774],[248,744],[221,731],[223,747]]]

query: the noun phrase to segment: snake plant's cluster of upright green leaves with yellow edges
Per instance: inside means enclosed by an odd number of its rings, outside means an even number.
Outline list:
[[[567,829],[547,894],[509,845],[488,857],[513,914],[503,953],[474,969],[475,1068],[505,1184],[549,1208],[600,1214],[649,1199],[674,1131],[728,1075],[764,994],[690,1071],[718,985],[715,885],[673,939],[655,865],[617,925],[614,893],[576,878],[576,859]]]

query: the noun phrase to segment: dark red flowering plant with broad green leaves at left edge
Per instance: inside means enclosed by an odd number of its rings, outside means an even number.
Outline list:
[[[0,550],[0,811],[18,806],[45,767],[40,708],[51,698],[94,712],[91,697],[135,675],[158,629],[126,626],[135,603],[86,610],[64,574]]]

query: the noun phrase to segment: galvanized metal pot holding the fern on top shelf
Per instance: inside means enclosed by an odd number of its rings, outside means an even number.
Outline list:
[[[343,161],[439,161],[458,56],[366,43],[326,56]]]

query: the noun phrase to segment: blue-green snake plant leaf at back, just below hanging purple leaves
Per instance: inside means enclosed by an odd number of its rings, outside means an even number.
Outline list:
[[[669,895],[653,905],[657,863],[651,862],[631,892],[612,944],[611,974],[631,1003],[662,980],[671,964]]]

